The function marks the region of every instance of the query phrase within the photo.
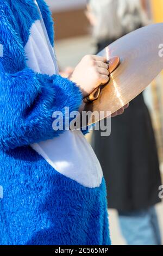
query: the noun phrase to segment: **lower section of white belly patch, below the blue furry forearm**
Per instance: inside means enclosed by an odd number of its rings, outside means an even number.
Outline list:
[[[33,144],[32,148],[55,170],[79,184],[90,188],[101,185],[101,165],[82,132],[65,131],[57,138]]]

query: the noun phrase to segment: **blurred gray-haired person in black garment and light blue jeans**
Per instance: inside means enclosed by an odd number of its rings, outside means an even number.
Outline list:
[[[86,15],[97,52],[121,36],[149,23],[139,0],[90,0]],[[151,117],[140,94],[122,117],[112,118],[111,136],[94,131],[92,147],[101,162],[108,207],[117,209],[128,245],[160,245],[154,205],[160,202],[158,153]]]

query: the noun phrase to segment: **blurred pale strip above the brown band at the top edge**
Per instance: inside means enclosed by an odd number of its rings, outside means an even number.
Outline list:
[[[86,4],[86,0],[46,0],[46,2],[54,11],[78,9]]]

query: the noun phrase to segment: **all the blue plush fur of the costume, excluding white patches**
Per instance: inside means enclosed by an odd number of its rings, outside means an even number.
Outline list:
[[[51,44],[53,21],[37,0]],[[77,111],[82,93],[61,76],[26,66],[24,46],[40,19],[33,0],[0,3],[0,244],[109,245],[105,181],[86,188],[55,171],[29,144],[59,136],[52,114]]]

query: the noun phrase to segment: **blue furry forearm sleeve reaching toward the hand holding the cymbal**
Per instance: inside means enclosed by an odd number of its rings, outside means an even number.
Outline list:
[[[64,115],[65,106],[77,111],[82,102],[79,88],[61,76],[35,74],[27,68],[6,74],[1,66],[0,74],[1,149],[58,136],[52,127],[53,112]]]

